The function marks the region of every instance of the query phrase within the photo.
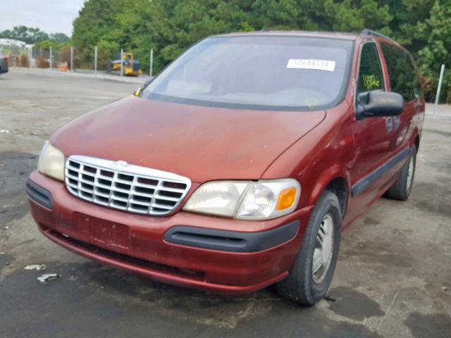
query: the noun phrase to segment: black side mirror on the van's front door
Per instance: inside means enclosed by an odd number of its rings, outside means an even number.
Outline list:
[[[402,113],[404,99],[400,94],[373,90],[367,95],[366,104],[357,104],[357,118],[378,118]]]

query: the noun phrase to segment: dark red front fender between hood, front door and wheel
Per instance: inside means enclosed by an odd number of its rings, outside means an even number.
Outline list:
[[[261,178],[297,179],[302,187],[298,208],[313,206],[334,178],[344,178],[349,189],[347,168],[353,158],[352,111],[343,101],[326,111],[323,122],[281,154]]]

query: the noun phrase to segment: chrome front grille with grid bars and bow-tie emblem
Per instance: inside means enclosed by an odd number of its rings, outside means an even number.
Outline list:
[[[80,199],[109,208],[167,215],[183,201],[191,181],[123,161],[73,155],[66,161],[66,187]]]

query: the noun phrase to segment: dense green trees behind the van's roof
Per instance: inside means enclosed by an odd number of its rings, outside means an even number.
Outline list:
[[[132,51],[144,70],[154,49],[154,70],[159,70],[209,35],[365,27],[406,46],[431,88],[440,65],[451,68],[451,0],[88,0],[74,21],[73,44],[88,61],[96,44],[102,62],[121,48]],[[450,82],[448,70],[448,101]],[[426,94],[434,93],[427,89]]]

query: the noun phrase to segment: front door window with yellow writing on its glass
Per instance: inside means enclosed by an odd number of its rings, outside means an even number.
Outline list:
[[[371,90],[383,90],[381,61],[379,61],[376,44],[366,43],[362,47],[357,84],[357,100],[366,103],[366,94]]]

